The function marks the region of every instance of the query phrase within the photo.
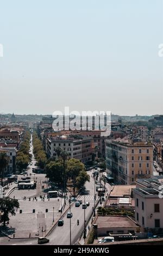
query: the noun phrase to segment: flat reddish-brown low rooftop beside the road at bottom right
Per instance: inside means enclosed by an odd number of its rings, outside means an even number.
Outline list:
[[[98,228],[124,228],[124,227],[137,227],[135,221],[131,220],[128,216],[97,216],[96,224]]]

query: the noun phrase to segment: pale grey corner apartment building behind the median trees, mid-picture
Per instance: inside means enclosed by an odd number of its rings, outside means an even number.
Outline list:
[[[78,159],[83,163],[91,160],[92,140],[83,136],[55,136],[47,138],[48,157],[58,157],[55,151],[57,147],[66,150],[70,158]]]

